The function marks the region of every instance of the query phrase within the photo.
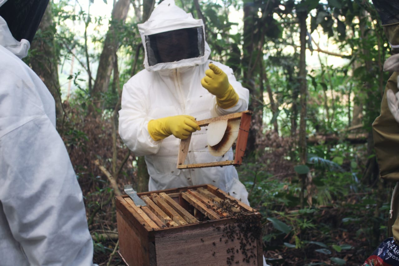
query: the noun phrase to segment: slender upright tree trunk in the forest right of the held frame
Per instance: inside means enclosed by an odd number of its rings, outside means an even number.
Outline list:
[[[306,146],[306,98],[308,94],[308,88],[306,84],[306,18],[308,14],[306,12],[298,13],[299,26],[300,26],[300,56],[299,56],[299,82],[300,82],[300,123],[299,123],[299,156],[302,165],[306,164],[307,161],[307,146]],[[306,174],[300,175],[302,189],[300,195],[301,208],[304,207],[304,193]]]

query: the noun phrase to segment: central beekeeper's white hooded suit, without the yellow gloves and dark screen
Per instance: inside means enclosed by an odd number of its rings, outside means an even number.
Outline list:
[[[150,175],[150,191],[191,185],[213,184],[249,204],[248,193],[239,181],[233,166],[198,169],[176,168],[180,139],[173,135],[154,141],[147,129],[152,119],[174,115],[191,115],[197,120],[208,119],[248,108],[249,91],[236,81],[231,68],[213,62],[228,76],[230,84],[239,95],[238,103],[221,109],[214,95],[201,86],[208,69],[210,49],[204,45],[203,56],[171,63],[148,64],[145,36],[181,28],[202,27],[202,20],[178,8],[173,0],[165,0],[152,12],[150,18],[139,24],[145,48],[145,69],[134,75],[123,86],[122,109],[119,111],[119,134],[135,155],[145,155]],[[193,133],[186,163],[203,163],[233,159],[230,150],[224,157],[214,157],[207,151],[206,130]]]

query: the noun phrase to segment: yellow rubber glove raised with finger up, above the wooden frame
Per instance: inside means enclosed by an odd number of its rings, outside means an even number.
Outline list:
[[[216,96],[217,105],[223,109],[229,109],[238,102],[238,94],[230,85],[226,73],[212,63],[209,64],[209,69],[205,71],[201,85]]]

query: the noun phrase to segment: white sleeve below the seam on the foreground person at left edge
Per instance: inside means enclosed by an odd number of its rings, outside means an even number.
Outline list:
[[[0,137],[0,183],[0,211],[30,265],[93,265],[82,192],[44,113]]]

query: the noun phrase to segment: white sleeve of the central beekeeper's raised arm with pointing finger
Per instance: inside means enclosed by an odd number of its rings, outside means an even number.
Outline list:
[[[219,107],[216,103],[216,98],[214,98],[214,111],[216,112],[217,115],[227,115],[229,113],[237,113],[237,112],[242,112],[246,111],[248,109],[248,103],[249,103],[249,90],[247,88],[244,88],[243,85],[241,85],[240,82],[235,79],[235,76],[233,74],[233,69],[231,69],[228,66],[225,66],[223,64],[220,64],[218,62],[213,62],[217,67],[223,70],[223,72],[226,73],[227,77],[229,78],[229,83],[235,90],[235,92],[238,94],[238,102],[236,105],[229,109],[223,109]]]

